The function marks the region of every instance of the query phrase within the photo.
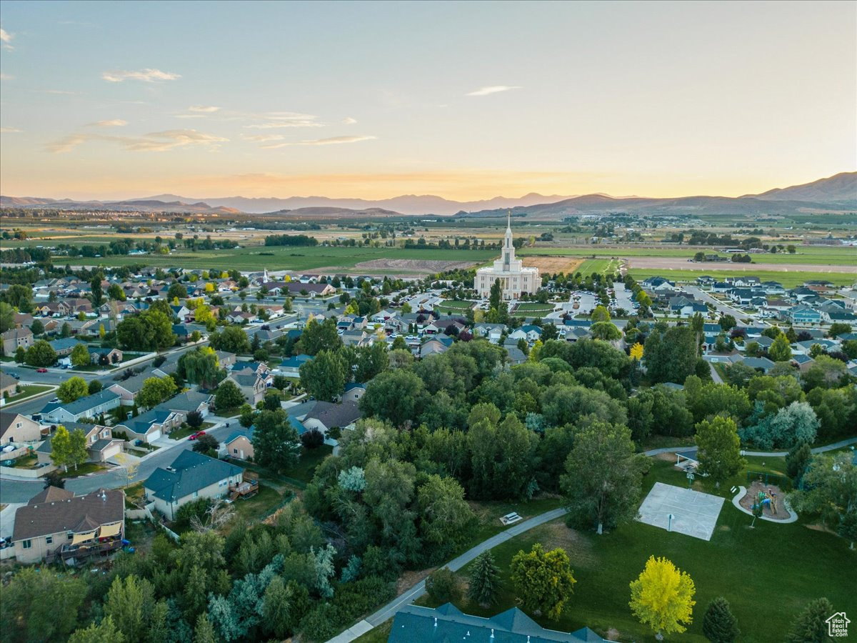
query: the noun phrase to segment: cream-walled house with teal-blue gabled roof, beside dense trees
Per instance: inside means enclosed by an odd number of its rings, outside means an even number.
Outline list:
[[[154,508],[168,520],[176,511],[198,498],[220,498],[230,487],[243,482],[244,470],[222,460],[193,451],[183,451],[171,466],[159,466],[143,483],[143,490]]]

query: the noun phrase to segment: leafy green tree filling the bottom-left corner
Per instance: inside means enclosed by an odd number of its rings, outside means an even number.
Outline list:
[[[3,587],[3,638],[12,641],[65,640],[77,625],[87,584],[50,568],[25,567]]]

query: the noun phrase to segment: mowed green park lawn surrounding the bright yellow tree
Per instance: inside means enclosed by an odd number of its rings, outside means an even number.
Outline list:
[[[656,479],[683,484],[682,478],[684,473],[669,463],[657,462],[644,486],[648,492]],[[723,487],[728,490],[727,485]],[[466,599],[458,607],[479,616],[512,607],[515,599],[508,580],[512,556],[542,543],[547,549],[568,551],[578,580],[571,608],[559,622],[536,618],[542,626],[555,630],[571,632],[585,625],[602,635],[614,628],[621,640],[655,640],[628,608],[629,583],[650,555],[666,556],[696,584],[694,620],[682,640],[704,641],[702,616],[716,596],[729,600],[738,617],[741,640],[746,641],[782,640],[794,615],[819,596],[829,598],[836,610],[857,610],[854,576],[844,572],[857,565],[857,552],[848,550],[842,538],[808,529],[804,519],[789,525],[759,520],[752,530],[748,528],[751,520],[730,502],[724,503],[710,542],[637,522],[599,537],[594,532],[570,530],[563,520],[554,520],[494,548],[503,580],[494,607],[482,610]],[[462,570],[465,578],[467,571]]]

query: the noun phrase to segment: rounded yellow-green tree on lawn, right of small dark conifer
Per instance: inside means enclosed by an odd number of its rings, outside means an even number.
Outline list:
[[[518,551],[509,570],[512,586],[524,610],[558,621],[577,582],[565,550],[558,547],[546,552],[542,544],[536,543],[529,552]]]

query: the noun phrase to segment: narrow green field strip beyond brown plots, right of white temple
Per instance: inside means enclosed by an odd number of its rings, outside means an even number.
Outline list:
[[[711,253],[710,248],[701,246],[662,246],[662,247],[628,247],[628,246],[602,246],[586,245],[571,248],[522,248],[518,255],[552,255],[552,256],[578,256],[578,257],[675,257],[691,259],[700,250]],[[724,254],[724,253],[721,253]],[[788,253],[777,253],[771,255],[752,255],[754,263],[806,263],[806,264],[828,264],[831,266],[854,266],[857,264],[857,249],[843,246],[802,246],[798,245],[794,255]],[[701,264],[705,265],[705,264]]]

